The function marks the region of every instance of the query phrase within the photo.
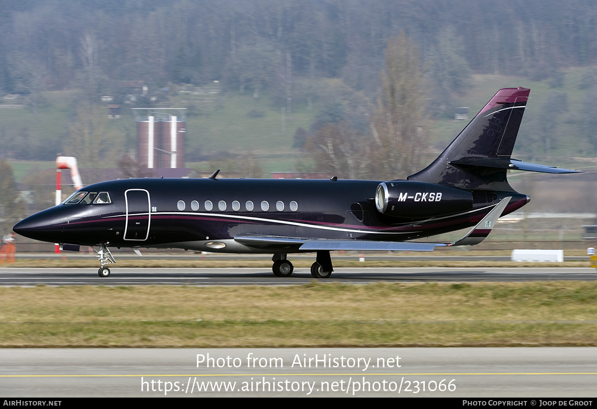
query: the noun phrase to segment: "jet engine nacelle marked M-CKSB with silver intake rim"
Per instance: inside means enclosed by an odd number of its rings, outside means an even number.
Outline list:
[[[433,183],[392,181],[377,186],[375,204],[384,215],[418,219],[470,210],[473,195]]]

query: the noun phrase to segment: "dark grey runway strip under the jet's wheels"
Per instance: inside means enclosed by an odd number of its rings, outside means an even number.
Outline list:
[[[93,268],[0,268],[0,286],[288,286],[311,283],[309,269],[275,277],[267,268],[118,268],[100,278]],[[337,268],[321,282],[597,280],[594,268]]]

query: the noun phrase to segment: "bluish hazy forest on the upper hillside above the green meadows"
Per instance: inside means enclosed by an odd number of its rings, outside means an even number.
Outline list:
[[[101,94],[139,79],[275,89],[287,58],[293,76],[374,90],[400,30],[445,88],[467,69],[542,79],[597,62],[597,7],[582,0],[4,0],[2,11],[5,92]]]

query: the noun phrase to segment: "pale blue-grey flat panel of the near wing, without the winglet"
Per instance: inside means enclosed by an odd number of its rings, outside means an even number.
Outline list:
[[[441,243],[417,243],[415,241],[369,241],[369,240],[307,240],[300,246],[301,250],[377,250],[403,252],[432,252]]]

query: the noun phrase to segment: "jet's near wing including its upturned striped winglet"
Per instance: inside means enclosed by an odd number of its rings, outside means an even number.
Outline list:
[[[470,246],[479,244],[491,233],[496,225],[497,219],[506,209],[512,197],[504,197],[491,212],[481,219],[460,240],[454,243],[423,243],[420,241],[374,241],[374,240],[328,240],[326,238],[294,238],[275,236],[237,236],[234,238],[238,243],[259,249],[294,249],[303,251],[318,250],[377,250],[377,251],[409,251],[409,252],[432,252],[435,247],[442,246]]]

